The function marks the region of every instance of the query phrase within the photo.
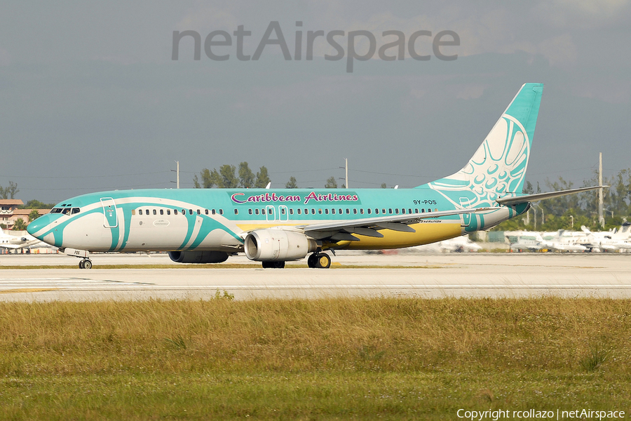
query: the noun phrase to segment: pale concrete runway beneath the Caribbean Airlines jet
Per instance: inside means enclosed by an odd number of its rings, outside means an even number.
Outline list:
[[[93,255],[94,268],[64,255],[0,255],[0,301],[329,296],[631,298],[631,254],[338,254],[334,269],[98,269],[172,264],[166,255]],[[229,262],[250,263],[245,257]],[[349,265],[379,265],[344,269]],[[24,266],[25,269],[4,269]],[[416,266],[416,267],[414,267]],[[419,267],[420,266],[420,267]]]

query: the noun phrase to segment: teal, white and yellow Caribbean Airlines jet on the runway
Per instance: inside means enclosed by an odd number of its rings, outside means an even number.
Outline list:
[[[144,189],[85,194],[57,204],[28,232],[89,269],[95,251],[168,251],[175,262],[224,262],[245,252],[263,267],[330,250],[418,246],[489,229],[531,201],[583,192],[522,194],[542,83],[526,83],[473,158],[413,189]]]

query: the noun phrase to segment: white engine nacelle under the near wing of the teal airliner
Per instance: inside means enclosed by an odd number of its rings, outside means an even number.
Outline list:
[[[258,229],[245,237],[245,255],[258,262],[298,260],[318,248],[314,239],[300,232]]]

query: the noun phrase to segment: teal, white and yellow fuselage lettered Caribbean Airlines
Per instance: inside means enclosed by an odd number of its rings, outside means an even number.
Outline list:
[[[462,208],[472,193],[414,189],[142,189],[76,196],[32,222],[29,233],[59,248],[89,251],[243,250],[247,232],[297,229],[322,222]],[[470,197],[471,196],[471,197]],[[325,248],[380,249],[418,246],[487,229],[524,212],[501,207],[412,224],[414,232],[381,229],[381,237],[325,241]]]

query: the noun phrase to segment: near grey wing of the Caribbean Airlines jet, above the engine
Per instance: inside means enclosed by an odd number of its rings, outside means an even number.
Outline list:
[[[408,213],[404,215],[388,215],[376,218],[364,218],[361,220],[346,220],[339,222],[325,222],[322,224],[311,224],[299,227],[304,229],[304,233],[315,239],[331,237],[336,241],[357,241],[358,238],[351,234],[372,236],[381,238],[384,234],[379,229],[392,229],[400,232],[416,232],[409,224],[420,222],[421,220],[439,218],[449,215],[463,215],[475,213],[482,210],[492,210],[494,208],[468,208],[460,210],[444,210],[441,212]]]

